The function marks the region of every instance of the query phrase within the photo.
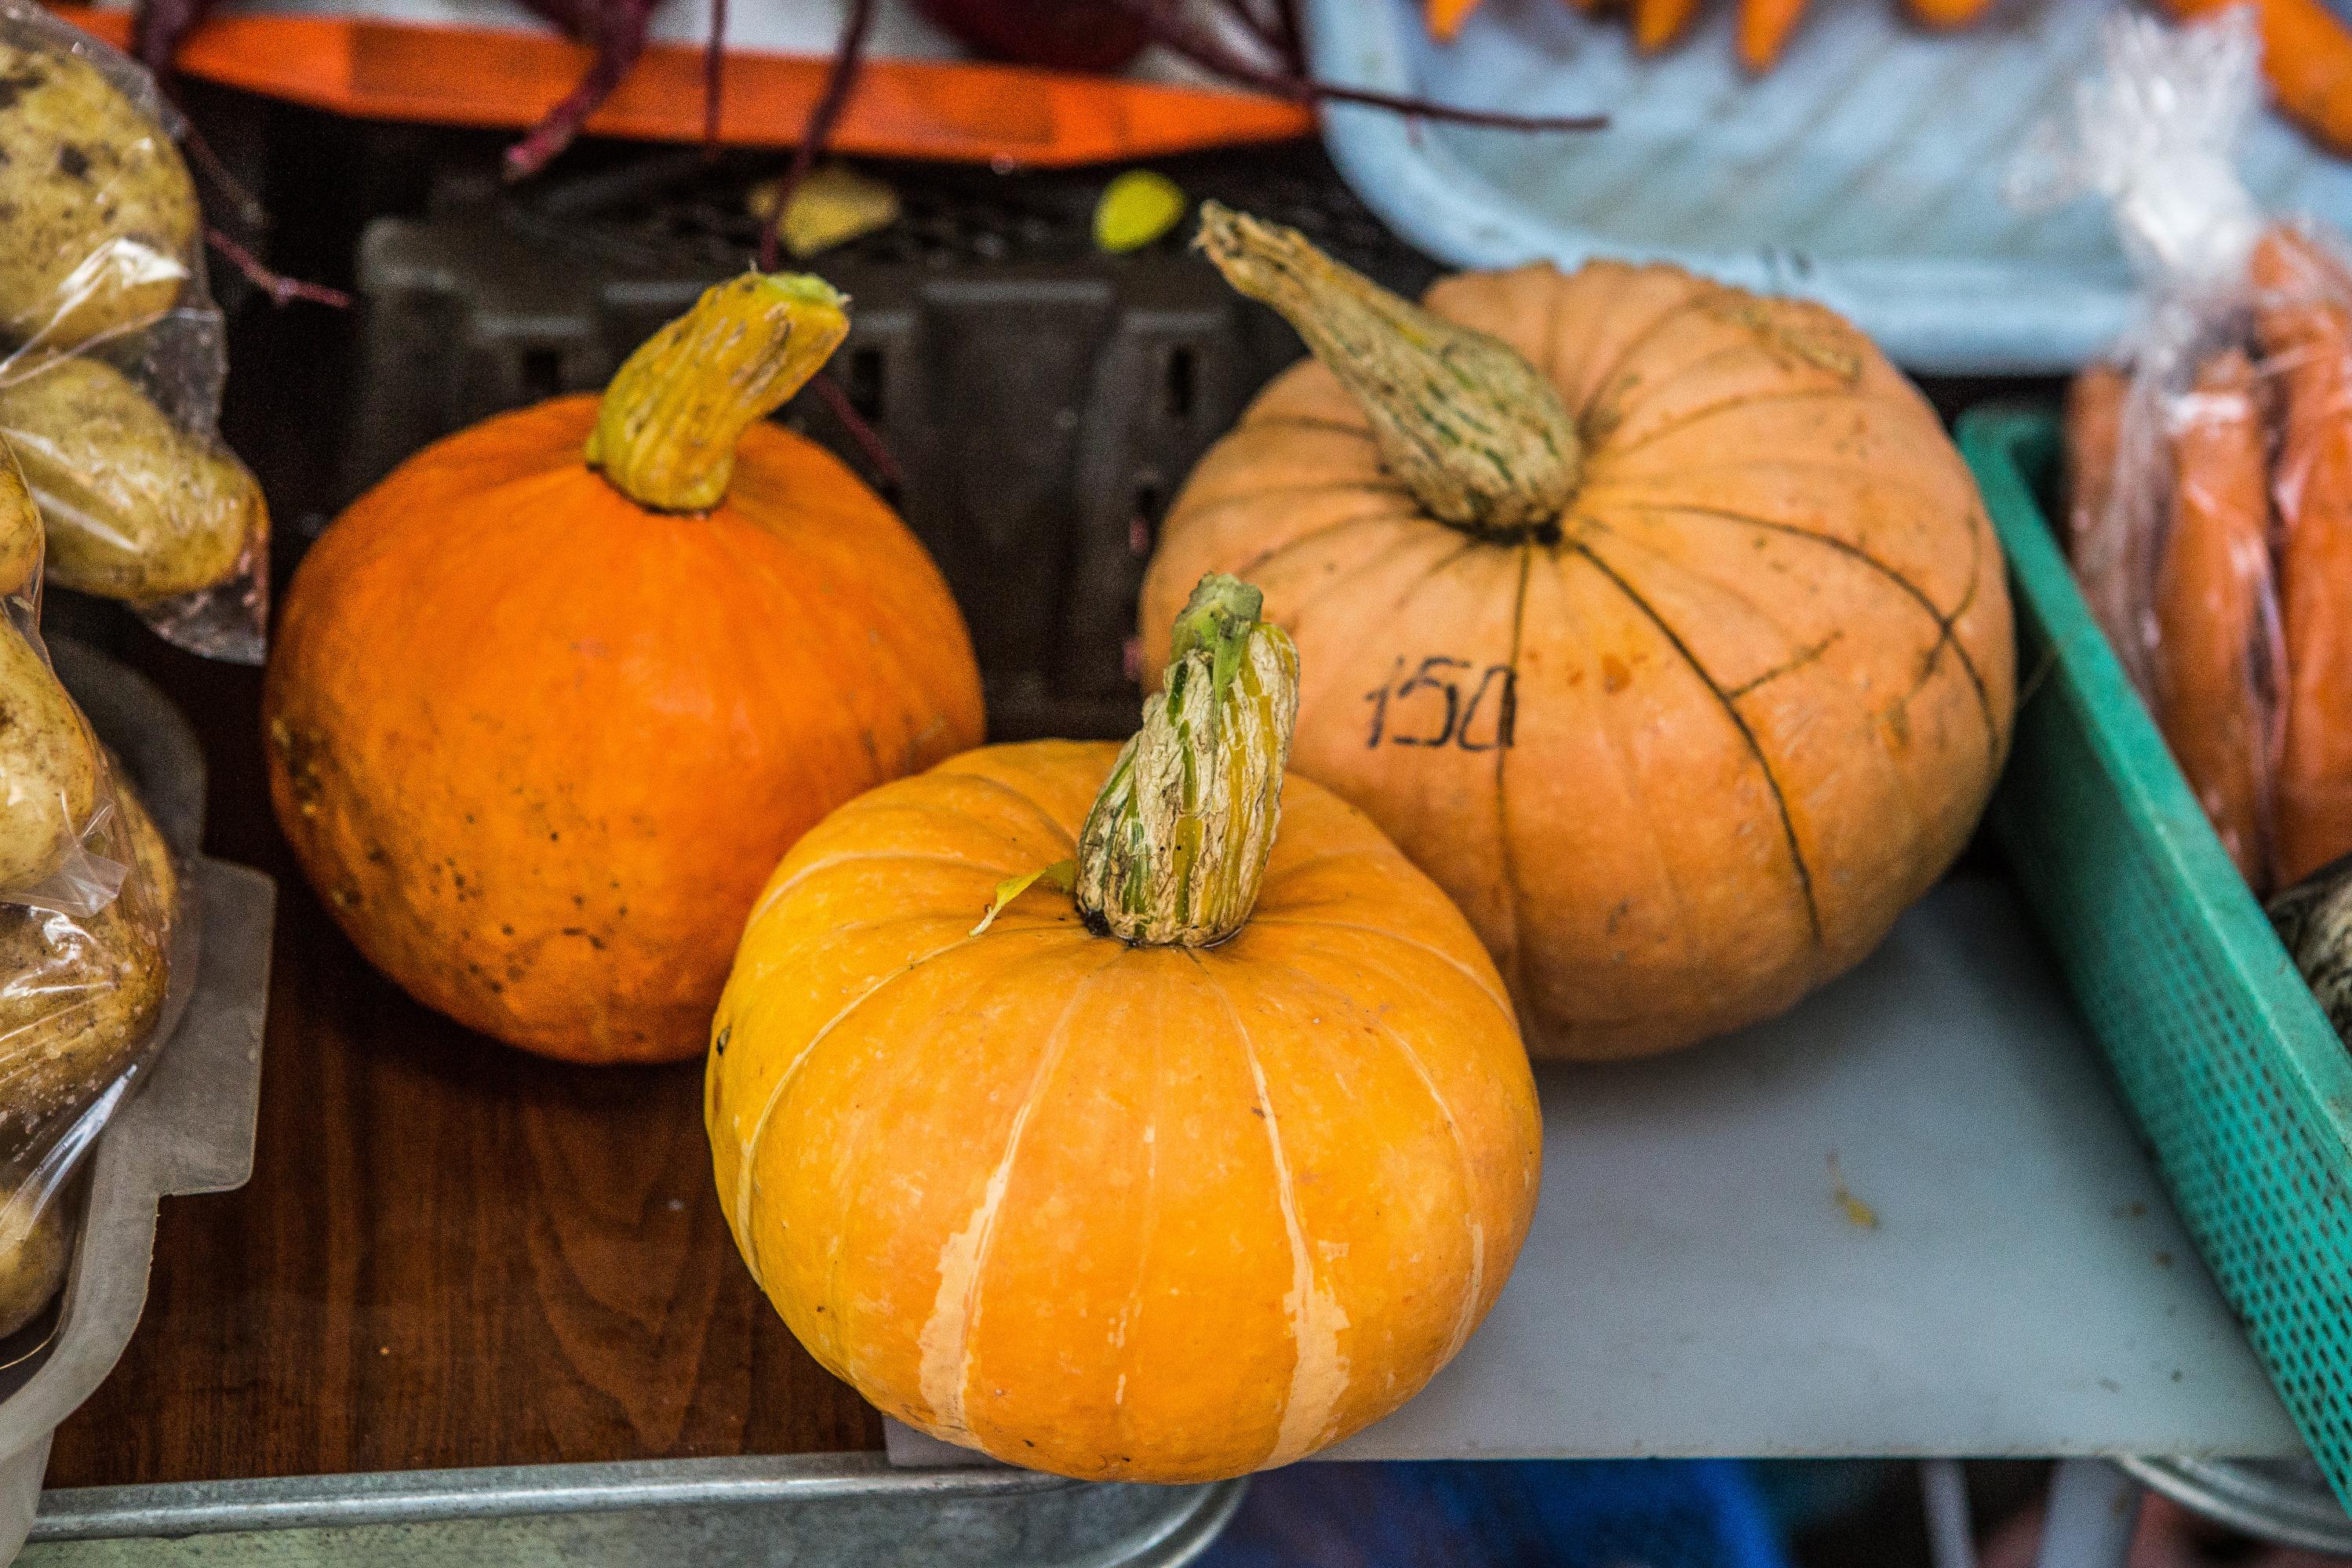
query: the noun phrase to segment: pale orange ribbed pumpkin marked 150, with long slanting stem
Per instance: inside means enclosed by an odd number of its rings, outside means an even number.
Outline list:
[[[1677,268],[1428,308],[1216,209],[1315,357],[1200,463],[1202,571],[1308,668],[1296,766],[1454,896],[1529,1046],[1665,1051],[1858,961],[1969,839],[2011,722],[2002,552],[1936,414],[1820,306]]]

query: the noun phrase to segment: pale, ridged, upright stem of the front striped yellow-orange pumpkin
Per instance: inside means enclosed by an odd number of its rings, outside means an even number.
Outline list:
[[[1240,578],[1200,581],[1077,835],[1077,907],[1129,943],[1209,947],[1258,903],[1298,717],[1298,649],[1261,609]]]

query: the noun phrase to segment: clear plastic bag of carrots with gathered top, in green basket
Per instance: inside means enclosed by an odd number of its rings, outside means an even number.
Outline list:
[[[2352,851],[2352,270],[2246,195],[2260,92],[2251,14],[2119,14],[2013,179],[2105,197],[2138,277],[2067,400],[2067,550],[2258,893]]]

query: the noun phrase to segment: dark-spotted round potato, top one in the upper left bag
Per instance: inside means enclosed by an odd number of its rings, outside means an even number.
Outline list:
[[[0,45],[0,329],[73,348],[188,282],[198,202],[172,139],[87,61]]]

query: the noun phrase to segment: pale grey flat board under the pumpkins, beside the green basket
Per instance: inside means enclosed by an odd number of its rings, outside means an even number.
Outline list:
[[[2305,1453],[2002,879],[1788,1018],[1538,1084],[1503,1300],[1324,1458]]]

